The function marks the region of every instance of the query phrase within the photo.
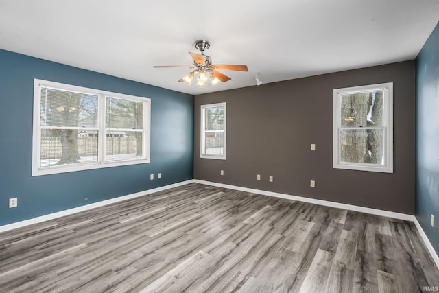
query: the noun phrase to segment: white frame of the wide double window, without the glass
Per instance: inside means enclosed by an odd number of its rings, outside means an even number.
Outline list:
[[[41,132],[40,132],[40,102],[41,87],[47,86],[52,89],[60,89],[63,91],[75,91],[80,93],[88,93],[98,96],[97,106],[97,130],[98,138],[98,156],[97,161],[91,163],[67,164],[59,166],[40,167],[40,148],[41,148]],[[105,102],[106,97],[114,97],[143,103],[143,156],[139,159],[130,159],[125,161],[105,161],[106,156],[106,128],[105,124]],[[33,135],[32,135],[32,176],[40,176],[47,174],[58,174],[65,172],[75,172],[88,169],[99,169],[106,167],[117,167],[125,165],[137,165],[150,163],[150,121],[151,121],[151,99],[147,97],[137,97],[134,95],[126,95],[122,93],[112,93],[109,91],[101,91],[97,89],[89,89],[82,86],[73,86],[71,84],[62,84],[59,82],[51,82],[48,80],[34,79],[34,119],[33,119]]]

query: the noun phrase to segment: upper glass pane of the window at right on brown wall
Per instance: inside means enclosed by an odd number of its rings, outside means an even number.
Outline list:
[[[383,91],[342,95],[342,127],[383,126]]]

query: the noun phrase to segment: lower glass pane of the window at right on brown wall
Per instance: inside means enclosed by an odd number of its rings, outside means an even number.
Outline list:
[[[383,129],[340,131],[340,161],[383,165],[383,154]]]

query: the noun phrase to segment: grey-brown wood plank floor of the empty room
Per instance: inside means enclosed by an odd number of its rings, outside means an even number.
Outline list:
[[[0,233],[0,292],[422,292],[416,226],[190,184]]]

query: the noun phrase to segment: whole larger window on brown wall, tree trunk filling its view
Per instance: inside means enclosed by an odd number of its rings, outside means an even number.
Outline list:
[[[393,83],[334,90],[333,167],[393,172]]]

